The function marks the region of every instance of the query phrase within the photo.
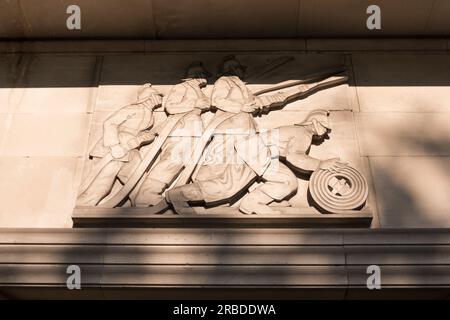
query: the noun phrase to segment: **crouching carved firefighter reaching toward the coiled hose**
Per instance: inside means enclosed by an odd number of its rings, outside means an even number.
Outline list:
[[[338,171],[345,167],[338,158],[321,161],[308,155],[313,138],[323,139],[329,130],[328,112],[316,110],[299,124],[275,128],[237,144],[238,155],[263,181],[242,198],[240,211],[246,214],[280,213],[268,204],[285,199],[298,187],[295,174],[285,163],[306,173],[319,169]]]

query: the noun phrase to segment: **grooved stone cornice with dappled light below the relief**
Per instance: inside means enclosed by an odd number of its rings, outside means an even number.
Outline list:
[[[1,229],[0,291],[67,294],[66,268],[77,264],[86,292],[105,294],[276,288],[344,298],[420,289],[448,297],[449,257],[446,229]],[[386,290],[366,289],[371,264]]]

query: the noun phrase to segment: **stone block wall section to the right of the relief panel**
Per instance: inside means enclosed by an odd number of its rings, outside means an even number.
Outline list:
[[[450,226],[450,56],[353,54],[381,227]]]

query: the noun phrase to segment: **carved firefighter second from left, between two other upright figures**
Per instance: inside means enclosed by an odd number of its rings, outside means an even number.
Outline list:
[[[203,93],[210,74],[201,62],[192,63],[182,83],[173,86],[163,99],[163,107],[169,117],[184,114],[161,147],[158,162],[144,175],[138,184],[135,206],[153,206],[163,200],[162,193],[183,169],[203,133],[201,113],[209,109],[210,99]],[[164,125],[161,124],[160,127]],[[158,129],[155,130],[158,132]]]

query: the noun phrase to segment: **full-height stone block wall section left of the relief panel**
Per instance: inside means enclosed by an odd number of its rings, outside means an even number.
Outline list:
[[[96,61],[70,55],[0,58],[0,226],[72,226]]]

